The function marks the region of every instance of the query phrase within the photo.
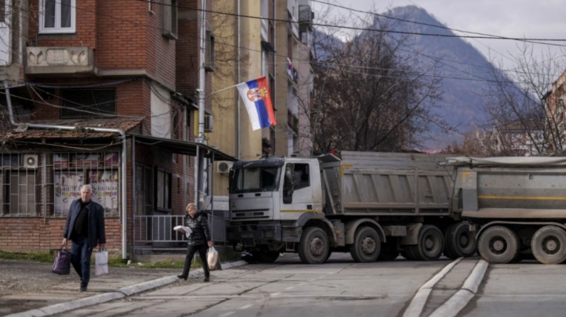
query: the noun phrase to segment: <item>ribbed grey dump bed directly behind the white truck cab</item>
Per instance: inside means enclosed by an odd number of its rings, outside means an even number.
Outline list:
[[[343,151],[321,161],[327,215],[447,215],[446,155]]]

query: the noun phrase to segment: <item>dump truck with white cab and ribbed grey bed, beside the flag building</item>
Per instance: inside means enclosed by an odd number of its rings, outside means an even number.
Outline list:
[[[234,162],[226,239],[250,259],[299,253],[324,263],[435,260],[475,254],[468,222],[451,214],[454,168],[446,155],[342,151],[341,156]]]

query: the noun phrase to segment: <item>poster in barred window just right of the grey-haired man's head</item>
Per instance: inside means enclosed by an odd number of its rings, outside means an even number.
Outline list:
[[[92,171],[93,201],[100,203],[107,213],[118,212],[118,171]]]

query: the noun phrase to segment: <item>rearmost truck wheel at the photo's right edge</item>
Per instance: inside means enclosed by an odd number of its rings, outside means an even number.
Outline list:
[[[566,260],[566,232],[557,226],[545,226],[536,230],[531,240],[531,250],[538,262],[558,264]]]

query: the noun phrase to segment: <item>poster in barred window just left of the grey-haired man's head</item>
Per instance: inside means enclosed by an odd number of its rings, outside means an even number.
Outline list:
[[[83,172],[55,172],[55,213],[69,213],[71,203],[81,198],[83,184]]]

